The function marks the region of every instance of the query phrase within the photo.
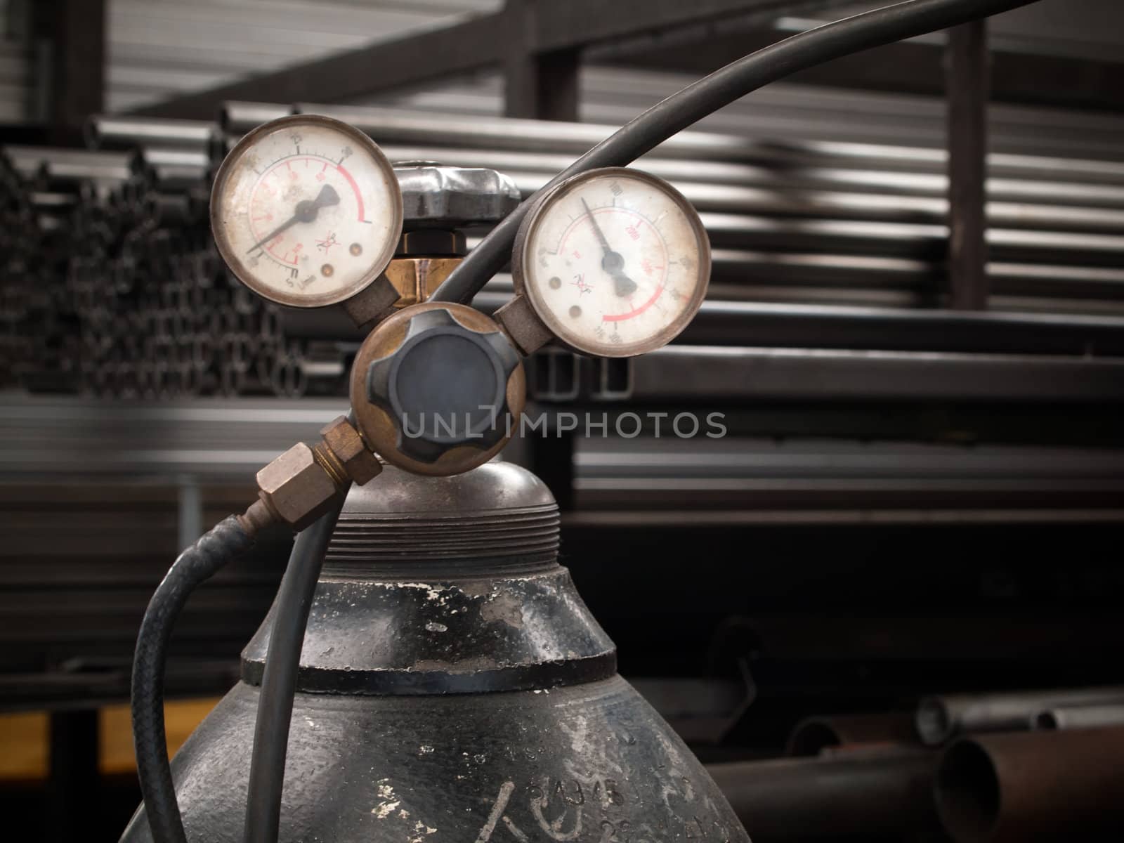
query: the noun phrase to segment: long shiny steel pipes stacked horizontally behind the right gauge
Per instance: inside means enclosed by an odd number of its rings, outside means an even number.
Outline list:
[[[227,103],[223,145],[288,110]],[[392,161],[501,170],[525,196],[615,128],[379,107],[293,110],[357,126]],[[944,149],[773,140],[753,134],[752,121],[744,130],[682,132],[636,162],[701,212],[715,247],[711,300],[941,305]],[[1124,163],[997,151],[989,170],[991,306],[1124,315]]]

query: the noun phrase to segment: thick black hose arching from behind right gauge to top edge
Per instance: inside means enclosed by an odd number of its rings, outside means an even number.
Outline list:
[[[671,94],[587,152],[551,179],[535,196],[587,170],[624,166],[677,132],[762,85],[832,58],[891,44],[936,29],[967,24],[1036,0],[909,0],[855,15],[770,44],[731,62]],[[511,256],[519,224],[532,198],[496,226],[430,297],[434,301],[469,301]]]

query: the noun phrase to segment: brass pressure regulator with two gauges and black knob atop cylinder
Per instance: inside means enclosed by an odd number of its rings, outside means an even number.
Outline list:
[[[223,162],[211,225],[232,272],[271,301],[342,305],[372,328],[352,369],[351,419],[260,473],[272,517],[308,523],[335,490],[378,473],[374,453],[419,474],[480,465],[523,411],[522,355],[547,343],[643,354],[698,311],[710,274],[698,214],[668,182],[625,167],[534,200],[511,255],[516,296],[495,319],[426,301],[464,255],[461,229],[518,199],[490,170],[395,167],[365,134],[318,115],[268,123]]]

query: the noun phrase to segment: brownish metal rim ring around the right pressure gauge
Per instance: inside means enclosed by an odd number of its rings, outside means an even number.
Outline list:
[[[528,245],[547,209],[577,188],[606,176],[619,176],[647,182],[663,192],[687,218],[699,244],[699,260],[696,270],[698,279],[690,300],[679,316],[659,334],[646,339],[629,343],[628,345],[584,343],[580,338],[572,337],[564,324],[554,318],[546,303],[538,298],[535,284],[527,283],[527,268],[534,266],[534,255],[528,253]],[[695,318],[695,315],[703,306],[703,301],[706,299],[707,288],[710,283],[710,237],[707,235],[706,228],[703,226],[703,220],[699,218],[698,211],[695,210],[695,206],[682,193],[664,179],[646,173],[643,170],[635,170],[627,166],[606,166],[578,173],[560,182],[543,193],[542,197],[534,200],[534,205],[519,225],[519,232],[515,237],[515,246],[511,252],[511,278],[515,282],[516,294],[526,297],[532,309],[535,311],[535,316],[538,317],[551,334],[554,335],[554,338],[562,345],[581,354],[590,354],[597,357],[634,357],[637,354],[645,354],[646,352],[662,348],[679,336],[683,332],[683,328]]]

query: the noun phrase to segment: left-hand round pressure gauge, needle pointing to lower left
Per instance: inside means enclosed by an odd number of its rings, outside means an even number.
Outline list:
[[[272,120],[223,162],[211,190],[223,259],[294,307],[350,299],[390,263],[402,230],[393,169],[366,135],[318,115]]]

